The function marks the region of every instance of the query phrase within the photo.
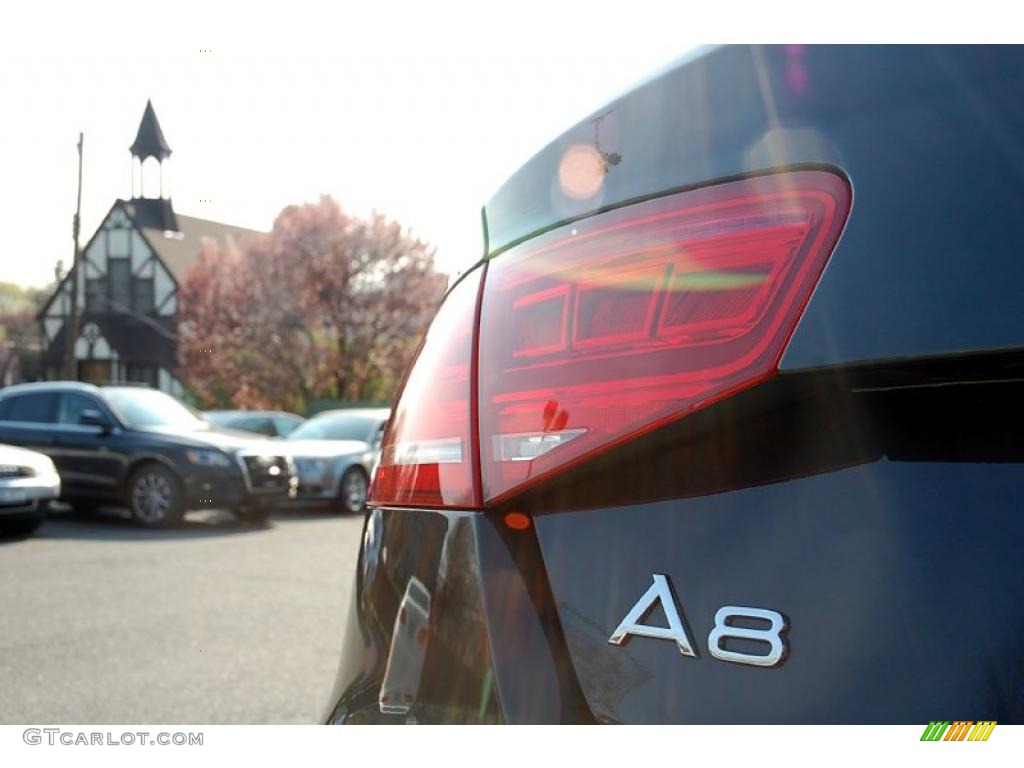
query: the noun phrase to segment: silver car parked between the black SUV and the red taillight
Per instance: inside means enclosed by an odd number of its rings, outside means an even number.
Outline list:
[[[388,409],[325,411],[284,438],[299,476],[289,506],[361,511],[390,415]]]

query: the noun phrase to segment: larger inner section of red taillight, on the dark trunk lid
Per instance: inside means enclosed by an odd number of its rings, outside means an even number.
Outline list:
[[[836,174],[779,173],[593,216],[495,258],[484,503],[772,376],[849,208]]]

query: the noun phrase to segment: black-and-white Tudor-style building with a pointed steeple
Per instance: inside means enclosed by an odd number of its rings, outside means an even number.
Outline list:
[[[131,198],[114,202],[79,258],[78,378],[143,382],[179,394],[174,376],[178,286],[199,260],[204,240],[242,244],[257,232],[175,213],[164,190],[164,162],[171,148],[148,101],[130,151]],[[156,197],[145,196],[147,181],[151,187],[159,181]],[[48,379],[63,378],[72,276],[57,286],[39,314]]]

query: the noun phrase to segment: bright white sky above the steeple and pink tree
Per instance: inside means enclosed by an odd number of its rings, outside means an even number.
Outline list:
[[[0,33],[0,281],[42,286],[70,264],[79,131],[83,246],[129,197],[147,98],[178,213],[269,229],[331,195],[456,271],[507,176],[697,42],[582,3],[82,5]]]

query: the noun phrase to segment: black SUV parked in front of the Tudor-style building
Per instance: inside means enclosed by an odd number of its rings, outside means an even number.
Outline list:
[[[76,508],[123,504],[147,526],[174,525],[185,510],[202,507],[262,518],[294,494],[291,463],[274,443],[216,431],[145,387],[7,387],[0,391],[0,442],[49,456],[61,499]]]

